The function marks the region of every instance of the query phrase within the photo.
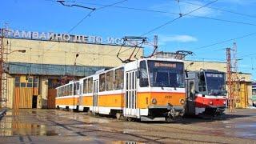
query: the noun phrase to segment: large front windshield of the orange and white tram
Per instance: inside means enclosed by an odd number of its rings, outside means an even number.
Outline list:
[[[182,62],[148,61],[150,86],[184,87]]]

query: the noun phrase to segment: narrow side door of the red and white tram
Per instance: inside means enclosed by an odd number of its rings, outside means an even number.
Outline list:
[[[186,94],[187,94],[187,112],[188,114],[195,114],[195,89],[194,79],[189,79],[186,82]]]

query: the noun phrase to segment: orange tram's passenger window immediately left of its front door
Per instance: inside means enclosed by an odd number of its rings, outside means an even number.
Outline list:
[[[123,67],[117,70],[114,70],[114,90],[123,89]]]

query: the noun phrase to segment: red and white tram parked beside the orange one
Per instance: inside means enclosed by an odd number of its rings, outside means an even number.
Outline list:
[[[227,102],[225,73],[200,70],[190,71],[186,76],[186,114],[223,114]]]

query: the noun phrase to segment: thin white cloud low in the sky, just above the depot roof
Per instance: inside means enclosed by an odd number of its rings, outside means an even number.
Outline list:
[[[190,35],[158,35],[159,45],[164,45],[167,42],[197,42],[198,38]]]

